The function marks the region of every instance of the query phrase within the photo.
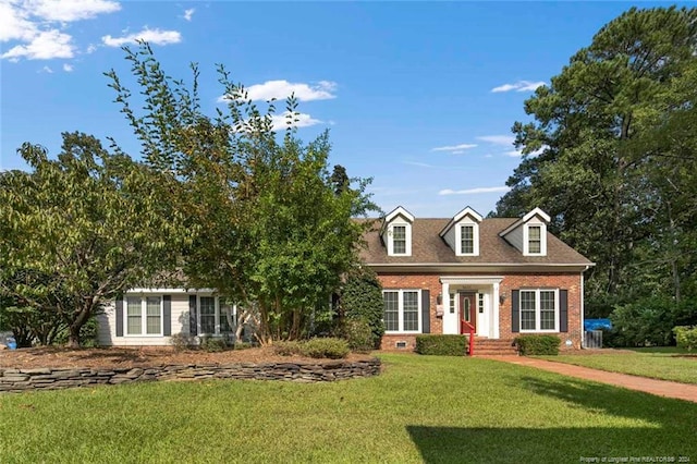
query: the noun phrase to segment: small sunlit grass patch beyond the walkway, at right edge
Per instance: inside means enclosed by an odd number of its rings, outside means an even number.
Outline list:
[[[540,356],[545,359],[611,373],[632,374],[653,379],[697,383],[697,356],[684,357],[675,347],[634,349],[633,353],[600,350],[594,354]],[[693,353],[695,354],[695,353]]]

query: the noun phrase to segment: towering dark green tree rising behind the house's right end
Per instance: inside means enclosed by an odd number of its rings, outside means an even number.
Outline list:
[[[696,9],[631,9],[525,102],[534,121],[513,126],[526,155],[497,213],[548,210],[597,262],[591,301],[680,298],[694,281],[696,51]]]

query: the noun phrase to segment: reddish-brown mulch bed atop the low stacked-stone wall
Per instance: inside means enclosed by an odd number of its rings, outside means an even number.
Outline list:
[[[367,354],[351,353],[345,361],[371,359]],[[247,350],[231,350],[208,353],[200,350],[176,351],[162,347],[105,347],[66,349],[42,346],[0,351],[0,368],[30,369],[38,367],[147,367],[173,364],[234,364],[234,363],[279,363],[310,362],[302,356],[280,356],[271,346]]]

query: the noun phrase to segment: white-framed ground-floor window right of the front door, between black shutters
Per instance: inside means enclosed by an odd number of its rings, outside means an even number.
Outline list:
[[[521,290],[521,332],[559,331],[559,291]]]

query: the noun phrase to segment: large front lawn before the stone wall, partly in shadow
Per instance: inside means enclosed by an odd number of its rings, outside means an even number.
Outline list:
[[[697,404],[488,359],[381,357],[381,376],[334,383],[0,395],[0,462],[697,460]]]

